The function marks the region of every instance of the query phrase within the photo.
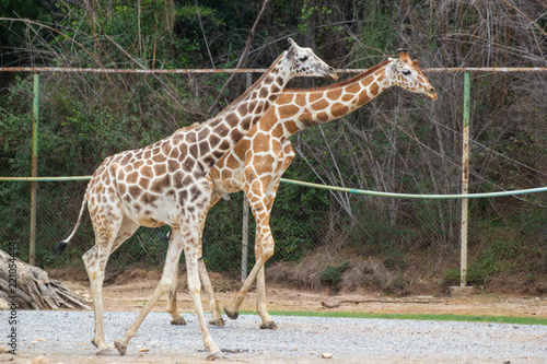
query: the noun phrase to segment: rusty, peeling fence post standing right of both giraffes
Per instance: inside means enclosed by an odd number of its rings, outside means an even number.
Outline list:
[[[470,75],[464,74],[464,126],[462,146],[462,195],[469,192],[469,98],[470,98]],[[462,199],[462,226],[461,226],[461,266],[459,285],[467,285],[467,210],[468,199]]]

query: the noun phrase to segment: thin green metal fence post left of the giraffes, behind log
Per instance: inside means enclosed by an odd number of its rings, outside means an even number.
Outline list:
[[[38,176],[38,120],[39,120],[39,73],[34,74],[34,103],[33,103],[33,145],[32,145],[32,176]],[[28,263],[35,265],[36,258],[36,210],[37,210],[38,183],[31,184],[31,244]]]

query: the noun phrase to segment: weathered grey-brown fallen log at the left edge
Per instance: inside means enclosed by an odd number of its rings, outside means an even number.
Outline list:
[[[0,250],[0,300],[22,309],[91,309],[85,300],[47,272]]]

